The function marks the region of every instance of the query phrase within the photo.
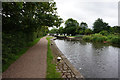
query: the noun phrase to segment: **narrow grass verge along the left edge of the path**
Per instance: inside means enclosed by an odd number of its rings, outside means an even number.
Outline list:
[[[26,48],[23,48],[19,53],[16,53],[16,54],[9,54],[7,55],[7,58],[6,58],[6,63],[2,65],[2,72],[4,72],[13,62],[15,62],[22,54],[24,54],[30,47],[32,47],[33,45],[35,45],[40,39],[40,38],[37,38],[36,40],[34,40],[33,42],[30,42],[27,44],[27,47]]]

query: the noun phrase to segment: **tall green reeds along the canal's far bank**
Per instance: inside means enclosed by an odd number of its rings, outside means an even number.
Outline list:
[[[102,35],[100,33],[86,35],[83,37],[85,41],[92,42],[102,42],[102,43],[110,43],[110,44],[120,44],[120,36],[115,34]]]

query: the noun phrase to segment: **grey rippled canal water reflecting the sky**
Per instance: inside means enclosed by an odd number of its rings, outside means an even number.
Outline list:
[[[57,39],[55,43],[85,78],[118,78],[120,48],[82,40]]]

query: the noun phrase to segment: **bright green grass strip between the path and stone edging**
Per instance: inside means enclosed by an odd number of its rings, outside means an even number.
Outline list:
[[[56,71],[56,65],[53,63],[53,55],[50,48],[50,39],[52,37],[47,37],[48,40],[48,51],[47,51],[47,76],[46,78],[61,78],[59,72]]]

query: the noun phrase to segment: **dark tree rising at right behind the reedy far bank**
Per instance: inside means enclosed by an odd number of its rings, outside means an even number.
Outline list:
[[[103,22],[102,19],[98,18],[94,23],[93,23],[93,28],[95,33],[99,33],[102,30],[109,30],[109,25],[106,22]]]

